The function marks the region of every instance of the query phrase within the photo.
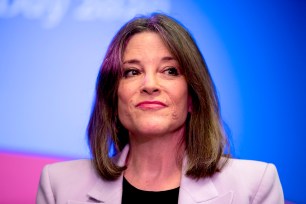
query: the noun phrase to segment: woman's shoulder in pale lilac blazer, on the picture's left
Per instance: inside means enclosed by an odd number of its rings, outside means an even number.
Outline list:
[[[99,176],[91,160],[75,160],[46,165],[40,177],[37,203],[54,203],[67,198],[85,199]]]

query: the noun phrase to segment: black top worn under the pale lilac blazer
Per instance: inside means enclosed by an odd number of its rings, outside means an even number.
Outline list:
[[[180,187],[166,191],[143,191],[123,177],[122,204],[177,204]]]

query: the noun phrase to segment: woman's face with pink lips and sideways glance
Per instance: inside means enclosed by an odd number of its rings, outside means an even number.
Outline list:
[[[178,61],[154,32],[135,34],[123,54],[118,115],[130,136],[182,133],[191,100]]]

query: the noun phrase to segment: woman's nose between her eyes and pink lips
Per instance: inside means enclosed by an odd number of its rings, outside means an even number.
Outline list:
[[[154,94],[160,91],[156,73],[146,73],[141,87],[142,93]]]

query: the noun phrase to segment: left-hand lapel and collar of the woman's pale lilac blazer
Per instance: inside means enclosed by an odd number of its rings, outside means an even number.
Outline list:
[[[117,165],[124,166],[129,152],[126,145],[118,157]],[[91,199],[106,204],[121,204],[123,175],[115,181],[98,179],[95,186],[87,194]]]

